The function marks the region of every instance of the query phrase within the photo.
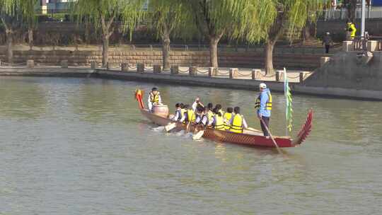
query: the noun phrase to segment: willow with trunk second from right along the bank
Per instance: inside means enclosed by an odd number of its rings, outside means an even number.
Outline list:
[[[251,0],[180,0],[191,11],[192,21],[209,40],[210,66],[218,67],[217,46],[221,37],[237,35],[243,11]]]

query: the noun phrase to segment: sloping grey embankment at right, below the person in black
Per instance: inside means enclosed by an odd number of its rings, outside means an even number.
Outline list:
[[[373,58],[365,64],[361,52],[340,52],[308,77],[304,86],[344,88],[356,91],[381,91],[382,52],[372,52]]]

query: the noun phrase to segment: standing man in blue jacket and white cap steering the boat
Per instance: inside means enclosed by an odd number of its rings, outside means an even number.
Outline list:
[[[260,95],[256,99],[255,108],[257,108],[257,117],[260,120],[262,133],[269,136],[266,127],[269,128],[270,116],[272,110],[272,95],[270,89],[265,83],[260,83]]]

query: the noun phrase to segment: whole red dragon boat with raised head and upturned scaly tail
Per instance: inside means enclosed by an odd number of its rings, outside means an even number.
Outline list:
[[[173,120],[170,120],[168,117],[163,117],[160,115],[156,115],[146,108],[144,108],[144,102],[142,100],[143,97],[143,91],[137,90],[135,92],[135,98],[138,101],[139,105],[139,111],[141,112],[144,117],[149,119],[154,124],[158,124],[160,126],[166,126],[170,123],[175,123],[174,131],[181,131],[186,130],[187,125],[183,124],[181,122],[174,122]],[[312,122],[313,122],[313,110],[310,109],[308,111],[308,117],[306,118],[305,124],[301,127],[299,133],[294,139],[291,139],[290,136],[273,136],[274,141],[277,142],[277,145],[279,148],[286,148],[286,147],[295,147],[302,144],[303,141],[306,140],[308,135],[311,132],[312,129]],[[197,127],[195,125],[190,126],[190,131],[193,132],[197,130]],[[204,139],[210,139],[212,141],[221,141],[231,144],[240,144],[245,146],[257,146],[257,147],[270,147],[274,148],[275,145],[272,141],[272,139],[267,138],[266,136],[263,136],[262,134],[256,134],[255,132],[248,132],[243,134],[238,134],[234,132],[229,131],[221,131],[216,130],[213,128],[207,128],[204,129],[204,134],[202,136]]]

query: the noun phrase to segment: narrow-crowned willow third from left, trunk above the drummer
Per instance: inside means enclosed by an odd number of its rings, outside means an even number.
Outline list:
[[[163,70],[170,69],[170,37],[190,36],[193,29],[190,10],[179,0],[149,1],[149,15],[152,27],[162,42]]]

